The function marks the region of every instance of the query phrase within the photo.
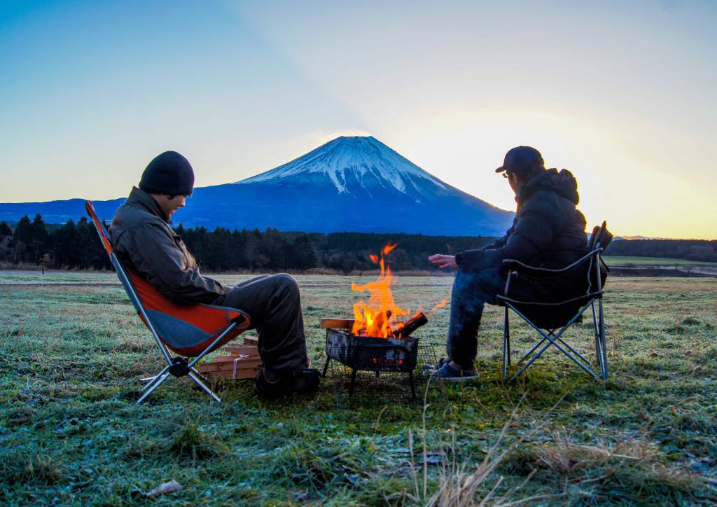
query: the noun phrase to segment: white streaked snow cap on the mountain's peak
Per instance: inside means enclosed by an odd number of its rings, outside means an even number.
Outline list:
[[[420,194],[419,179],[446,188],[442,181],[373,136],[338,137],[287,164],[237,181],[237,184],[276,181],[301,174],[325,175],[339,194],[351,193],[347,176],[353,176],[351,179],[359,181],[362,187],[364,179],[372,177],[382,186],[392,186],[404,194],[411,190]]]

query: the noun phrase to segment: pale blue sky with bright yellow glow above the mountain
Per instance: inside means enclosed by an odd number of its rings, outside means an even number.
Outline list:
[[[371,135],[511,210],[493,169],[534,146],[589,228],[717,239],[716,22],[713,0],[3,0],[0,202],[125,196],[170,149],[207,186]]]

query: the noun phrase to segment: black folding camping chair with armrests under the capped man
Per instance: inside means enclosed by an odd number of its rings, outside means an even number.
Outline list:
[[[604,293],[604,282],[607,278],[607,265],[602,260],[602,252],[612,241],[612,234],[607,230],[607,223],[596,226],[592,230],[589,242],[589,253],[571,265],[559,270],[549,270],[543,267],[533,267],[523,264],[518,260],[503,260],[503,265],[508,269],[508,279],[505,283],[505,293],[498,295],[498,305],[505,307],[503,327],[503,380],[511,364],[511,331],[508,318],[508,310],[513,310],[532,328],[541,335],[541,340],[528,351],[518,364],[526,361],[526,364],[511,378],[511,381],[523,374],[533,361],[538,359],[549,346],[554,345],[556,349],[568,356],[572,361],[581,367],[594,379],[607,379],[607,345],[605,343],[605,322],[602,308],[602,295]],[[523,277],[532,280],[539,280],[543,283],[570,283],[566,275],[576,270],[583,270],[586,276],[583,287],[576,288],[575,297],[557,302],[521,301],[510,297],[511,278]],[[574,280],[574,278],[571,278]],[[597,305],[596,305],[597,302]],[[597,306],[597,308],[596,308]],[[597,364],[600,368],[598,376],[590,368],[591,363],[576,349],[574,349],[563,338],[564,332],[576,322],[582,321],[582,316],[587,308],[592,308],[592,322],[595,336],[595,352]],[[529,359],[528,359],[529,358]]]

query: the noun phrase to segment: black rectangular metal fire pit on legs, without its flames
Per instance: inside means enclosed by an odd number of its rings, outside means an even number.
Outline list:
[[[382,371],[406,373],[411,385],[411,397],[416,397],[413,371],[418,363],[418,338],[377,338],[351,334],[353,321],[350,319],[324,318],[321,327],[326,328],[326,376],[331,359],[351,369],[351,384],[348,394],[356,387],[357,371],[373,371],[379,376]]]

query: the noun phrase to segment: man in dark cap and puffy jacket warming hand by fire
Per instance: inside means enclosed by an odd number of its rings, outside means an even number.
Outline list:
[[[565,267],[588,252],[585,217],[578,209],[577,182],[567,169],[546,169],[541,153],[518,146],[505,154],[503,174],[516,194],[518,209],[505,236],[480,250],[429,258],[438,267],[457,270],[451,295],[448,358],[439,361],[435,375],[447,380],[478,376],[473,361],[478,351],[478,328],[485,303],[505,290],[504,259],[536,267]],[[577,283],[581,273],[575,273]],[[511,297],[560,298],[570,286],[553,286],[525,279],[511,280]]]

